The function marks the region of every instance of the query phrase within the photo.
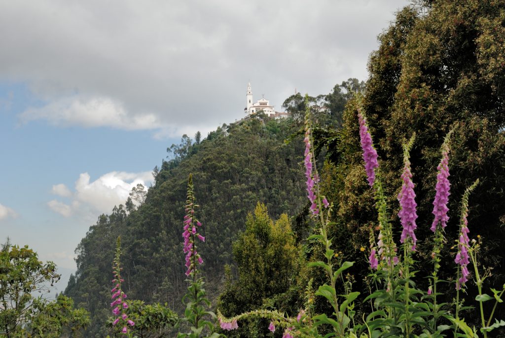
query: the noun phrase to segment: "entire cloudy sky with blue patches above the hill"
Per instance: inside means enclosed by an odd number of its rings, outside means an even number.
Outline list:
[[[166,149],[366,80],[406,0],[0,0],[0,240],[64,275],[100,214],[149,186]]]

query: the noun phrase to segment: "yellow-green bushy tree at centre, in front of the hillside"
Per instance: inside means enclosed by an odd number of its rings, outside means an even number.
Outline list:
[[[292,286],[299,273],[300,246],[295,243],[289,220],[282,214],[273,222],[265,205],[258,204],[245,221],[245,231],[233,243],[238,279],[226,284],[218,310],[227,317],[260,308],[296,311]],[[291,301],[292,302],[292,301]],[[242,324],[241,324],[242,325]],[[228,336],[258,336],[266,333],[263,320],[248,322]]]

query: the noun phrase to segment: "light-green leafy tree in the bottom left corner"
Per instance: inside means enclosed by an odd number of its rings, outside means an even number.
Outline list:
[[[53,337],[60,336],[57,332],[64,326],[70,325],[73,330],[85,327],[87,312],[74,310],[70,299],[60,296],[48,302],[42,296],[33,296],[48,293],[48,284],[53,286],[59,279],[56,265],[39,261],[28,246],[5,245],[0,251],[0,335]]]

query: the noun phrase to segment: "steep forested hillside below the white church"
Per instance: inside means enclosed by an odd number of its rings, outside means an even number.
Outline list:
[[[176,157],[155,169],[156,182],[137,210],[128,203],[128,208],[119,206],[99,217],[76,249],[77,272],[65,292],[91,312],[90,333],[103,336],[107,330],[110,266],[118,235],[129,297],[180,308],[187,286],[181,233],[189,173],[207,238],[201,255],[211,295],[217,294],[224,265],[232,262],[232,242],[258,201],[273,217],[293,215],[304,206],[302,142],[295,138],[284,143],[298,128],[293,123],[254,119],[218,128],[199,143],[173,147]]]

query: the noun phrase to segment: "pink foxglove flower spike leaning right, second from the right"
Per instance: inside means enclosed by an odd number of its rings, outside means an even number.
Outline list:
[[[447,203],[449,200],[449,137],[452,133],[452,130],[447,133],[445,136],[444,142],[442,144],[442,158],[440,163],[438,164],[437,170],[437,184],[435,186],[435,200],[433,201],[433,215],[435,215],[435,219],[433,219],[433,223],[431,223],[431,231],[435,232],[436,226],[440,224],[442,228],[445,228],[447,225],[447,221],[449,220],[449,216],[447,216],[447,212],[449,208],[447,208]]]

